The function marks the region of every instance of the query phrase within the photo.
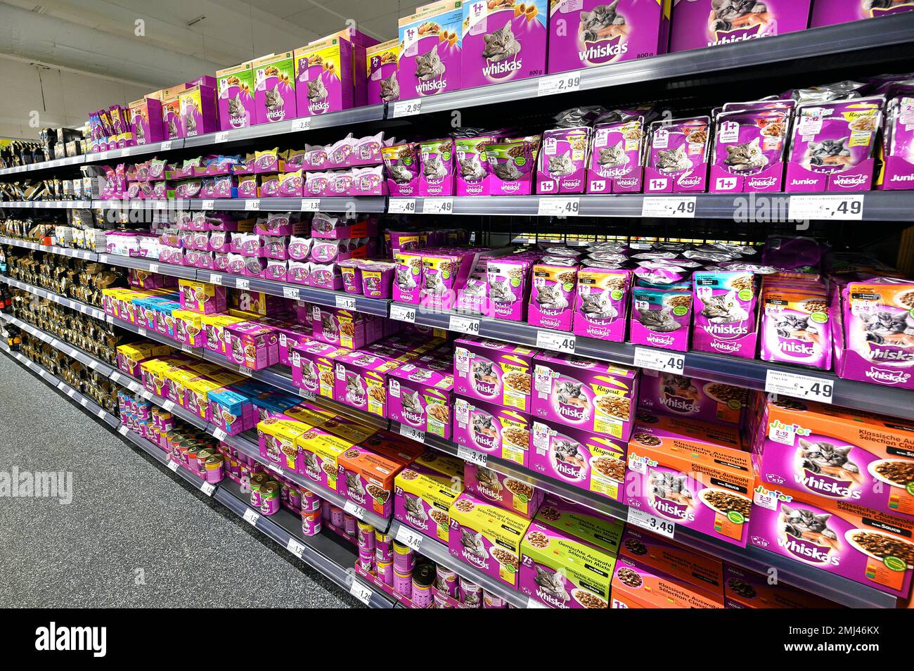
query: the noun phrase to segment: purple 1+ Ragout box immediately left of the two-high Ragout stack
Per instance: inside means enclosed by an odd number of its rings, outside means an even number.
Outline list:
[[[388,419],[444,440],[451,439],[453,377],[403,364],[388,372]]]

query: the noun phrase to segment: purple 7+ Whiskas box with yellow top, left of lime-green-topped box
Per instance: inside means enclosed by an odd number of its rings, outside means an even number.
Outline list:
[[[448,510],[452,557],[516,589],[520,542],[530,520],[463,492]]]

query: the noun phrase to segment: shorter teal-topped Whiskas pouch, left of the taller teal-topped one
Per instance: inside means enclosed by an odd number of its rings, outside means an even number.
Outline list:
[[[633,345],[685,352],[691,321],[690,289],[632,288],[629,342]]]

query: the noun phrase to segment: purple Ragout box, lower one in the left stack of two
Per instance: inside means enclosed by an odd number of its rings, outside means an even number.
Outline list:
[[[456,396],[453,441],[476,452],[528,466],[530,416],[484,400]]]

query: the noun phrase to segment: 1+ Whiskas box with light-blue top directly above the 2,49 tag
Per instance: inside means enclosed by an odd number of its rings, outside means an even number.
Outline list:
[[[400,100],[462,88],[462,16],[460,0],[440,0],[399,20]]]

